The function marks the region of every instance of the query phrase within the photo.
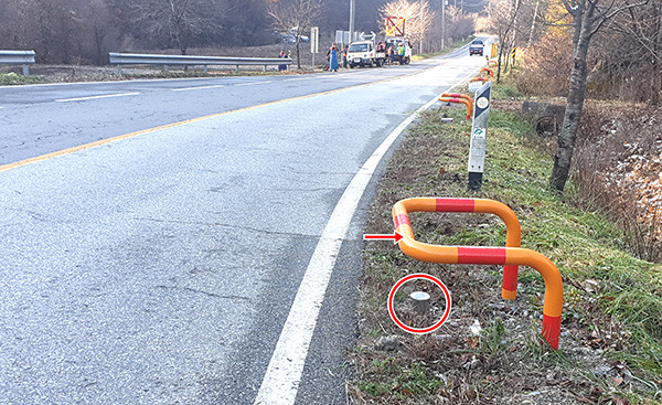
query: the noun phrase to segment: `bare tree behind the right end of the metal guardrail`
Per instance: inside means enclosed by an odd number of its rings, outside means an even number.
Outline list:
[[[322,14],[321,0],[276,0],[267,8],[273,25],[278,31],[292,32],[297,46],[297,67],[301,68],[299,43]]]

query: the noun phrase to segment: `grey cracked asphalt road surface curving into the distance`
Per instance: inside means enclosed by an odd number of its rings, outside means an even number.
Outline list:
[[[403,119],[484,64],[467,54],[0,88],[0,164],[213,115],[0,171],[0,404],[253,403],[348,183]],[[297,403],[344,402],[381,170],[342,244]]]

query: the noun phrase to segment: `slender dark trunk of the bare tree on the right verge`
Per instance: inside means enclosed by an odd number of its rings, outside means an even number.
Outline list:
[[[573,71],[570,73],[570,89],[563,119],[563,126],[558,134],[558,150],[554,157],[554,169],[552,170],[552,185],[563,192],[566,181],[570,172],[573,163],[573,153],[575,151],[575,140],[577,139],[577,128],[584,109],[584,98],[586,92],[586,57],[588,55],[588,46],[590,44],[590,32],[592,24],[586,15],[579,14],[580,19],[575,23],[575,30],[578,33],[575,35],[576,45],[574,47]],[[579,25],[579,26],[577,26]]]

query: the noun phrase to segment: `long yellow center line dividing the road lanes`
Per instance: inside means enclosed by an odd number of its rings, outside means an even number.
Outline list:
[[[433,67],[435,67],[435,66],[433,66]],[[275,100],[275,102],[269,102],[269,103],[264,103],[264,104],[257,104],[255,106],[248,106],[248,107],[237,108],[237,109],[233,109],[233,110],[229,110],[229,111],[211,114],[211,115],[207,115],[207,116],[197,117],[197,118],[191,118],[191,119],[186,119],[186,120],[179,121],[179,122],[167,124],[167,125],[162,125],[162,126],[159,126],[159,127],[142,129],[142,130],[139,130],[139,131],[136,131],[136,132],[130,132],[130,134],[125,134],[125,135],[120,135],[120,136],[113,137],[113,138],[102,139],[102,140],[95,141],[95,142],[89,142],[89,143],[81,145],[81,146],[73,147],[73,148],[62,149],[62,150],[57,150],[55,152],[41,154],[41,156],[34,157],[34,158],[19,160],[18,162],[3,164],[3,166],[0,166],[0,172],[7,171],[7,170],[11,170],[11,169],[15,169],[15,168],[20,168],[20,167],[23,167],[23,166],[26,166],[26,164],[31,164],[31,163],[36,163],[36,162],[40,162],[40,161],[43,161],[43,160],[49,160],[49,159],[56,158],[56,157],[60,157],[60,156],[75,153],[75,152],[78,152],[78,151],[82,151],[82,150],[85,150],[85,149],[96,148],[96,147],[99,147],[99,146],[103,146],[103,145],[107,145],[107,143],[110,143],[110,142],[115,142],[115,141],[118,141],[118,140],[134,138],[134,137],[137,137],[139,135],[145,135],[145,134],[150,134],[150,132],[154,132],[154,131],[159,131],[159,130],[163,130],[163,129],[180,127],[180,126],[192,124],[192,122],[197,122],[197,121],[202,121],[202,120],[206,120],[206,119],[211,119],[211,118],[222,117],[224,115],[229,115],[229,114],[235,114],[235,113],[242,113],[242,111],[248,111],[248,110],[252,110],[252,109],[267,107],[267,106],[273,106],[273,105],[276,105],[276,104],[281,104],[281,103],[287,103],[287,102],[295,102],[295,100],[300,100],[300,99],[306,99],[306,98],[311,98],[311,97],[317,97],[317,96],[323,96],[323,95],[328,95],[328,94],[333,94],[333,93],[339,93],[339,92],[348,90],[348,89],[351,89],[351,88],[367,87],[367,86],[372,86],[374,84],[378,84],[378,83],[383,83],[383,82],[387,82],[387,81],[405,78],[405,77],[414,76],[414,75],[417,75],[417,74],[421,74],[421,73],[424,73],[424,72],[426,72],[426,71],[428,71],[428,70],[430,70],[433,67],[427,67],[425,70],[413,72],[413,73],[409,73],[407,75],[402,75],[402,76],[398,76],[398,77],[387,77],[387,78],[384,78],[384,79],[381,79],[381,81],[376,81],[376,82],[364,83],[364,84],[359,84],[359,85],[354,85],[354,86],[348,86],[348,87],[343,87],[343,88],[335,88],[335,89],[332,89],[332,90],[325,90],[325,92],[320,92],[320,93],[307,94],[307,95],[303,95],[303,96],[297,96],[297,97],[291,97],[291,98],[284,98],[284,99],[279,99],[279,100]]]

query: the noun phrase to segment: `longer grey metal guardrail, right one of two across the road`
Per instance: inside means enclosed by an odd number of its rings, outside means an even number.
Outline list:
[[[226,57],[226,56],[192,56],[192,55],[150,55],[136,53],[115,53],[110,52],[110,64],[117,65],[117,74],[121,75],[122,65],[163,65],[163,71],[168,72],[168,66],[204,66],[204,73],[207,73],[209,65],[236,66],[239,71],[241,65],[267,66],[270,65],[291,65],[290,57]]]

